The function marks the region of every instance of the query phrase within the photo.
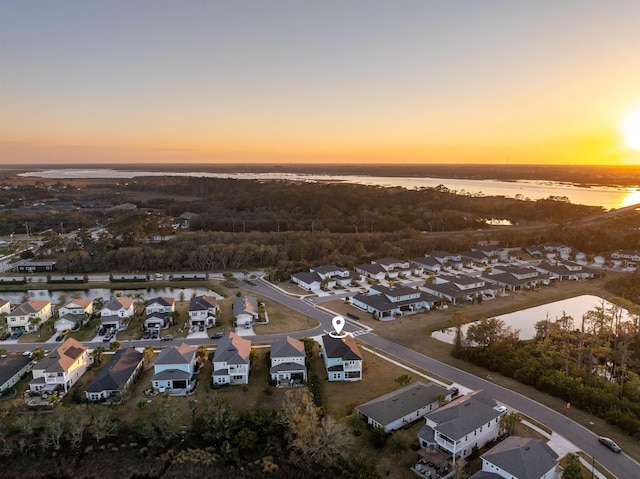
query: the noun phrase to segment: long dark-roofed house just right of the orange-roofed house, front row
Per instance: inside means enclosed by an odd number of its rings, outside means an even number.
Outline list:
[[[85,389],[87,401],[120,402],[142,370],[142,359],[142,353],[135,348],[118,349]]]

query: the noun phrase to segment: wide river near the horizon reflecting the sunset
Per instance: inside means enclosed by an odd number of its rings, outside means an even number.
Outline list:
[[[20,176],[36,178],[133,178],[135,176],[191,176],[232,179],[290,180],[306,182],[343,182],[370,186],[403,187],[407,189],[434,188],[444,185],[461,194],[479,196],[506,196],[539,200],[549,196],[565,196],[574,204],[620,208],[640,203],[640,189],[592,186],[581,187],[553,181],[497,181],[466,180],[429,177],[385,177],[364,175],[308,175],[298,173],[212,173],[171,171],[127,171],[117,169],[61,168],[22,173]]]

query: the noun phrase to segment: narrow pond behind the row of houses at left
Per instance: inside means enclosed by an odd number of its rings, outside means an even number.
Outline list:
[[[24,291],[12,291],[12,292],[3,292],[0,293],[0,298],[9,301],[12,305],[21,304]],[[132,295],[135,297],[136,294],[140,293],[145,301],[153,298],[157,298],[159,296],[171,297],[178,300],[180,298],[180,293],[184,293],[184,298],[189,300],[192,296],[215,296],[217,299],[222,299],[218,293],[211,291],[209,288],[140,288],[140,289],[102,289],[102,288],[94,288],[94,289],[86,289],[86,290],[76,290],[76,291],[49,291],[46,289],[33,289],[27,291],[29,295],[29,299],[44,299],[47,301],[51,301],[52,304],[58,304],[60,302],[60,298],[66,298],[66,301],[71,301],[75,297],[81,299],[95,299],[95,298],[103,298],[106,301],[109,301],[111,297],[115,297],[117,294],[121,296]]]

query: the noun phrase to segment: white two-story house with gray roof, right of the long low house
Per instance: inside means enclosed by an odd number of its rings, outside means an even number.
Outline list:
[[[452,458],[465,458],[498,437],[501,411],[484,391],[476,391],[431,412],[418,432],[423,448],[444,450]]]

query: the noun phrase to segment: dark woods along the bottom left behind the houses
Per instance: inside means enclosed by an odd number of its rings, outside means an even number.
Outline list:
[[[378,477],[375,461],[352,447],[353,431],[324,415],[306,389],[289,391],[280,410],[237,411],[212,393],[192,404],[188,425],[177,420],[182,401],[163,401],[130,423],[93,404],[3,417],[2,477]]]

